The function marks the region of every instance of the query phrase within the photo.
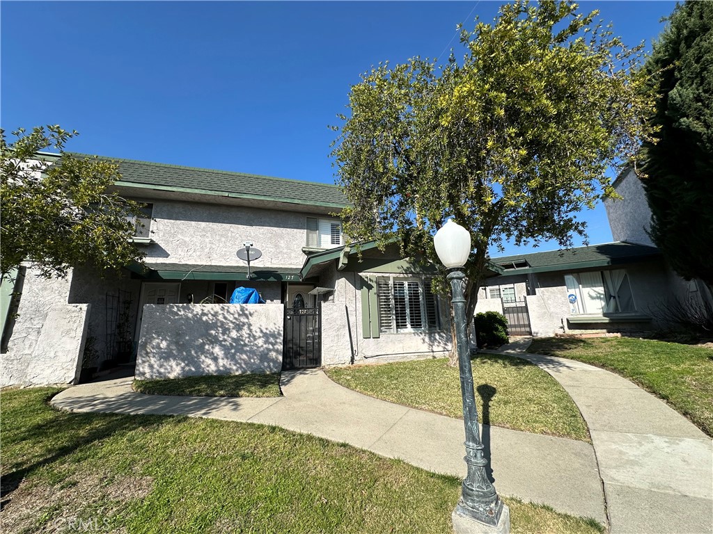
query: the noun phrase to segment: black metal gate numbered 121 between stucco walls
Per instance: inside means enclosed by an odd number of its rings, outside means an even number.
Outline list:
[[[322,365],[321,311],[320,308],[285,308],[283,370]]]

